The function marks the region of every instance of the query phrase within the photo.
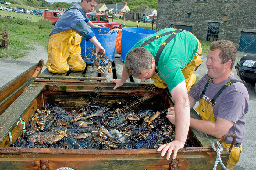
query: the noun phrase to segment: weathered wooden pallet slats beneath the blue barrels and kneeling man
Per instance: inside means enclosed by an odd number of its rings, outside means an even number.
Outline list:
[[[74,81],[101,81],[110,82],[112,79],[120,79],[122,77],[124,62],[120,59],[120,54],[115,54],[115,60],[112,62],[112,71],[108,73],[107,68],[105,73],[101,74],[95,69],[91,64],[86,64],[84,71],[72,72],[68,71],[63,74],[54,74],[45,69],[41,75],[38,77],[43,79],[54,79],[54,80],[74,80]],[[106,66],[107,67],[107,66]],[[145,80],[141,82],[140,79],[136,79],[130,76],[126,82],[135,83],[153,83],[152,79]]]

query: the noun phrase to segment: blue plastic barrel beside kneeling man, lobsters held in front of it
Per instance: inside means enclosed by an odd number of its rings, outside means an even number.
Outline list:
[[[110,28],[91,28],[92,32],[94,32],[96,38],[98,39],[98,41],[101,43],[101,46],[105,49],[105,55],[111,60],[114,61],[115,57],[115,50],[116,50],[116,35],[117,32],[112,32],[111,34],[107,34],[111,29]],[[100,30],[100,31],[99,31]],[[82,39],[82,42],[80,44],[81,46],[81,56],[83,58],[83,60],[85,61],[85,63],[87,64],[93,64],[93,59],[94,59],[94,55],[91,57],[92,51],[89,50],[89,47],[93,47],[93,43],[91,41],[86,41],[86,50],[84,47],[85,44],[85,39]],[[94,46],[94,49],[96,49],[96,47]],[[85,57],[85,51],[86,51],[86,56],[87,58],[91,58],[91,59],[87,59]],[[100,62],[101,63],[101,62]],[[104,63],[101,63],[102,65]],[[106,64],[108,64],[108,61],[106,61]]]

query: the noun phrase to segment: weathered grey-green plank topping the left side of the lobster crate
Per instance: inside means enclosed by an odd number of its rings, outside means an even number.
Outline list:
[[[42,91],[45,84],[46,83],[43,82],[41,82],[40,85],[31,84],[24,93],[17,98],[16,102],[12,103],[12,105],[0,115],[0,141],[8,135],[16,125],[17,120],[26,113],[26,110]]]

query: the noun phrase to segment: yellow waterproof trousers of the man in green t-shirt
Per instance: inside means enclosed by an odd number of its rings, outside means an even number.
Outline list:
[[[190,87],[196,81],[196,75],[193,74],[194,69],[197,68],[203,62],[203,59],[201,57],[201,54],[202,54],[201,43],[199,42],[198,39],[197,39],[197,42],[198,42],[198,49],[197,49],[196,55],[191,60],[191,62],[181,70],[185,77],[187,92],[189,92]],[[162,89],[167,88],[166,83],[161,77],[159,77],[158,73],[155,73],[154,76],[151,77],[151,79],[154,80],[155,87],[162,88]]]

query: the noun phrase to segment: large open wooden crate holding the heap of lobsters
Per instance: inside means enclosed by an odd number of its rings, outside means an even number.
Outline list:
[[[121,65],[120,67],[123,67]],[[87,69],[87,71],[95,73],[94,70]],[[120,71],[116,70],[116,72]],[[24,73],[24,75],[26,74],[28,73]],[[73,75],[75,74],[77,73]],[[179,150],[175,160],[166,160],[166,155],[161,157],[156,149],[91,150],[10,147],[23,133],[23,124],[20,122],[24,121],[25,124],[28,124],[36,109],[44,110],[46,103],[59,106],[67,111],[83,107],[86,104],[108,105],[120,109],[129,107],[136,111],[173,106],[169,92],[153,86],[152,83],[127,82],[113,90],[114,83],[103,82],[103,79],[107,81],[105,77],[96,77],[98,76],[87,77],[82,74],[72,76],[72,73],[68,76],[46,75],[42,73],[30,83],[22,94],[16,94],[18,97],[15,101],[13,99],[7,102],[8,104],[2,102],[1,108],[8,108],[0,115],[0,169],[54,170],[60,167],[69,167],[74,170],[199,170],[213,168],[217,154],[212,149],[212,143],[218,139],[192,128],[190,128],[188,138],[194,147]],[[101,82],[97,80],[101,80]],[[9,87],[15,85],[17,83],[9,85]],[[21,87],[22,85],[17,86]],[[5,90],[9,90],[9,88],[5,88]],[[5,90],[3,91],[6,92]],[[200,119],[193,109],[190,111],[191,117]],[[221,157],[226,165],[229,158],[226,148],[223,149]],[[217,169],[222,169],[222,167],[218,165]]]

